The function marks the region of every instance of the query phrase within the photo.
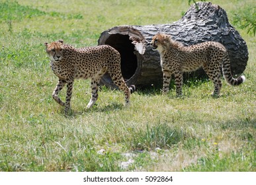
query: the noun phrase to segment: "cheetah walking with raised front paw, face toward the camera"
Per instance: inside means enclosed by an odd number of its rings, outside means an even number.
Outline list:
[[[50,65],[54,74],[59,78],[58,85],[52,97],[58,104],[65,106],[65,114],[70,108],[73,82],[75,79],[91,79],[91,99],[87,108],[91,108],[98,98],[99,82],[105,73],[109,73],[115,85],[125,94],[125,104],[130,102],[130,94],[135,86],[127,87],[120,68],[120,54],[108,45],[74,48],[64,44],[62,39],[48,44],[45,43],[46,53],[50,57]],[[58,97],[59,92],[67,85],[65,103]]]

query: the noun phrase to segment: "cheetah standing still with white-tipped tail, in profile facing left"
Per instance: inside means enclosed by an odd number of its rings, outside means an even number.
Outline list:
[[[195,71],[202,67],[214,83],[213,96],[219,96],[222,88],[221,68],[224,78],[230,85],[240,85],[245,81],[241,75],[232,77],[230,59],[226,48],[219,42],[203,42],[192,46],[183,46],[171,36],[157,33],[150,42],[152,50],[158,51],[163,71],[163,94],[169,92],[171,75],[174,74],[176,95],[182,96],[183,72]]]

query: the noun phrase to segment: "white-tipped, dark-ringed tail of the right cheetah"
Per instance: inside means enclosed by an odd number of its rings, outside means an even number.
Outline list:
[[[230,69],[230,59],[228,58],[228,55],[224,58],[223,63],[222,63],[222,71],[224,78],[228,82],[228,84],[236,86],[240,85],[245,81],[245,76],[241,75],[237,79],[232,77],[231,69]]]

